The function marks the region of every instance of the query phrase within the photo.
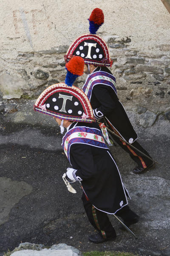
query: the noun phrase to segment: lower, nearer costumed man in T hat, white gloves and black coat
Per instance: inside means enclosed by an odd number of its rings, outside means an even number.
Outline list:
[[[67,128],[62,147],[72,167],[67,168],[64,177],[67,182],[81,182],[85,212],[98,231],[88,238],[91,242],[101,243],[116,238],[107,214],[120,216],[128,227],[138,222],[139,216],[127,205],[128,192],[87,96],[79,88],[71,86],[77,75],[83,74],[83,59],[78,56],[72,58],[66,69],[65,83],[45,89],[34,110],[53,116],[61,132],[63,127]],[[72,191],[70,186],[68,189]]]

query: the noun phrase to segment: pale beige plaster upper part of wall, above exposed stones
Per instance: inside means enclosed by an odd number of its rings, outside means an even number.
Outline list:
[[[170,15],[161,0],[1,2],[0,44],[8,49],[47,50],[69,45],[75,37],[88,32],[87,18],[96,7],[101,8],[105,15],[100,33],[132,36],[131,47],[141,50],[157,50],[160,44],[169,44]],[[10,41],[9,38],[14,39]]]

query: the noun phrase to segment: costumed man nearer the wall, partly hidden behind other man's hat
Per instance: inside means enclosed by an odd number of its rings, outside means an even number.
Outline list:
[[[108,69],[112,65],[108,46],[101,37],[96,35],[97,29],[104,23],[102,10],[94,9],[88,20],[90,34],[79,36],[71,44],[65,55],[65,61],[68,62],[72,56],[81,56],[84,59],[84,71],[88,77],[82,90],[91,103],[94,117],[98,120],[105,118],[106,126],[124,139],[123,141],[114,136],[114,140],[137,163],[133,173],[141,174],[153,167],[154,163],[147,151],[136,141],[137,134],[117,96],[116,79]],[[126,142],[142,151],[150,159]]]

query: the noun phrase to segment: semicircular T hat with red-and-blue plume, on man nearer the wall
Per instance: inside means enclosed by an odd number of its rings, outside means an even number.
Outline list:
[[[112,61],[108,46],[104,39],[96,35],[96,31],[104,23],[104,14],[101,9],[95,8],[89,21],[90,34],[80,35],[69,47],[64,56],[65,62],[68,62],[73,56],[81,56],[85,64],[111,67]]]

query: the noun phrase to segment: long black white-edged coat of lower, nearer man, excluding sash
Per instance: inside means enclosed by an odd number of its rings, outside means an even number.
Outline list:
[[[69,130],[75,126],[99,129],[95,123],[73,123]],[[127,191],[110,150],[74,143],[70,147],[70,162],[77,169],[75,175],[82,179],[85,194],[97,209],[113,214],[127,205]]]

